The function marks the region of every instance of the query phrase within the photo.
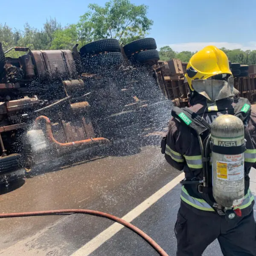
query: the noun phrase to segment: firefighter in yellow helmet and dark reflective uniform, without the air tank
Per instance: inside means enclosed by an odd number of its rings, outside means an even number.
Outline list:
[[[207,86],[214,80],[222,86]],[[185,81],[190,90],[187,109],[197,113],[209,125],[217,116],[234,115],[244,102],[250,105],[247,99],[237,96],[227,55],[214,46],[207,46],[192,56],[187,64]],[[167,162],[185,174],[175,223],[177,256],[202,255],[215,239],[218,239],[224,256],[256,256],[254,197],[249,189],[249,172],[251,167],[256,168],[256,112],[253,109],[244,120],[244,139],[244,200],[236,208],[236,218],[228,220],[223,210],[216,209],[216,204],[210,204],[204,197],[207,193],[208,198],[212,198],[212,189],[202,193],[199,187],[203,161],[198,137],[191,132],[188,123],[184,125],[172,115],[161,147]]]

